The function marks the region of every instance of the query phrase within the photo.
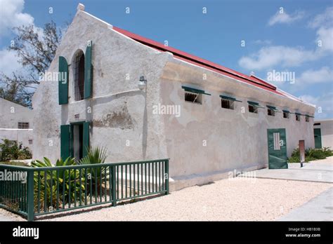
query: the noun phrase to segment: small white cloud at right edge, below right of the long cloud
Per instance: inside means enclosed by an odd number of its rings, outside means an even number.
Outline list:
[[[333,83],[333,70],[329,67],[322,67],[321,69],[313,70],[308,69],[299,76],[296,77],[296,84],[316,84],[316,83]]]

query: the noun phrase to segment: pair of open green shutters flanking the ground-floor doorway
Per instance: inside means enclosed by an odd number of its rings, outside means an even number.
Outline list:
[[[60,156],[65,160],[69,156],[73,155],[73,130],[72,125],[60,126]],[[83,157],[88,154],[89,151],[89,122],[83,122]]]

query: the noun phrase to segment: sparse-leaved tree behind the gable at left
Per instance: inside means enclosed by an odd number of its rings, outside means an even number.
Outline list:
[[[8,50],[18,56],[18,62],[25,68],[22,72],[0,74],[0,96],[6,100],[31,107],[32,95],[39,85],[39,77],[50,66],[61,40],[61,29],[51,21],[43,29],[34,25],[14,27],[15,38]]]

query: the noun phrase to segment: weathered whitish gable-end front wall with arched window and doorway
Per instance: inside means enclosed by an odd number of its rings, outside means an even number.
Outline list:
[[[33,97],[35,158],[59,158],[60,125],[76,121],[91,121],[91,147],[107,147],[107,161],[166,157],[161,139],[164,127],[159,116],[152,114],[151,104],[159,100],[159,76],[171,55],[110,28],[82,11],[75,16],[48,69],[58,72],[59,55],[71,65],[69,104],[58,104],[58,81],[42,82]],[[86,51],[89,40],[93,41],[93,97],[75,102],[71,62],[79,48]],[[138,89],[140,76],[148,80],[147,91]]]

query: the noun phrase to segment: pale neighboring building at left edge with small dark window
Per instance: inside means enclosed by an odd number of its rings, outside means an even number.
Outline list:
[[[32,151],[32,109],[0,98],[0,142],[8,139],[22,142]]]

